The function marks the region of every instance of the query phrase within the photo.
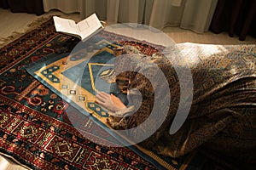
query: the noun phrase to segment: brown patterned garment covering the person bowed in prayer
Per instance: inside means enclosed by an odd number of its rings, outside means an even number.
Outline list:
[[[151,137],[142,142],[143,147],[154,148],[165,156],[177,157],[201,146],[218,152],[219,155],[255,163],[256,46],[182,43],[169,48],[169,51],[177,49],[177,54],[184,56],[178,62],[174,62],[176,57],[166,59],[164,54],[145,56],[140,54],[139,49],[131,47],[115,51],[116,56],[132,55],[129,65],[127,66],[127,61],[123,65],[132,71],[116,77],[120,90],[128,94],[132,104],[113,113],[124,117],[110,116],[109,124],[115,129],[137,127],[147,120],[154,107],[154,99],[166,100],[165,89],[162,94],[154,95],[150,81],[143,74],[137,73],[141,70],[148,71],[154,77],[156,87],[161,88],[159,71],[155,69],[152,64],[154,63],[165,74],[172,99],[170,108],[166,108],[168,114],[165,122]],[[173,63],[176,65],[175,69]],[[122,65],[121,62],[115,64]],[[180,82],[176,69],[182,70],[184,65],[188,65],[192,73],[193,101],[183,126],[171,135],[169,129],[180,102]],[[137,101],[138,93],[134,88],[143,95],[141,103]],[[141,105],[137,105],[138,103]],[[142,131],[147,132],[148,128],[154,128],[154,124],[157,123],[152,122],[152,126],[142,127]],[[143,135],[137,128],[134,128],[132,134],[134,138]]]

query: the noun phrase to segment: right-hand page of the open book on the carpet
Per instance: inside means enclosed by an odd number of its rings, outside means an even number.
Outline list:
[[[90,15],[90,17],[85,20],[80,21],[78,24],[78,29],[80,31],[80,36],[82,40],[86,37],[89,37],[99,28],[103,27],[100,20],[97,18],[96,14]]]

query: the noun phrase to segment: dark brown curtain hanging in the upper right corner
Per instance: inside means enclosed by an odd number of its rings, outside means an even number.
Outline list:
[[[241,41],[247,35],[256,37],[256,1],[218,0],[210,30],[215,33],[228,31],[230,37],[237,35]]]

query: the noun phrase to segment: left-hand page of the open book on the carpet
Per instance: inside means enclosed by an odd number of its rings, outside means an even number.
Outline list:
[[[74,20],[62,19],[57,16],[54,16],[53,19],[55,21],[56,31],[66,32],[80,36],[78,26]]]

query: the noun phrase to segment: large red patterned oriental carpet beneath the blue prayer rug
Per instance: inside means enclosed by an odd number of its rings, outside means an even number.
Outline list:
[[[75,37],[55,32],[53,20],[48,20],[1,48],[3,155],[32,169],[202,169],[206,165],[216,168],[215,163],[198,152],[173,159],[159,156],[154,150],[110,147],[113,135],[26,71],[27,65],[40,59],[54,59],[70,52],[77,42]],[[67,112],[72,114],[67,116]],[[73,120],[76,127],[71,123]]]

